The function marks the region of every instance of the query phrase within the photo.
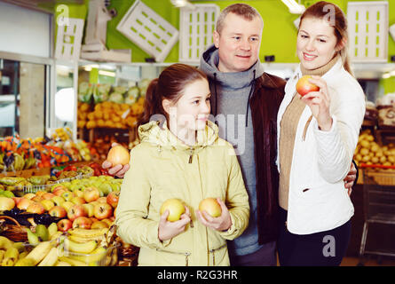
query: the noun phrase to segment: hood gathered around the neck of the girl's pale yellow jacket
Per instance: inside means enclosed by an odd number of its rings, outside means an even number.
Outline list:
[[[138,137],[141,142],[149,142],[155,146],[164,148],[190,149],[177,138],[167,127],[167,123],[152,121],[138,127]],[[208,121],[204,130],[198,130],[196,135],[195,149],[213,145],[218,139],[218,127]]]

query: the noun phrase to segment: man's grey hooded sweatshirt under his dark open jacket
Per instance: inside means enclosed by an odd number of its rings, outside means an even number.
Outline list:
[[[212,45],[201,57],[200,68],[209,77],[211,114],[218,122],[219,137],[233,144],[249,193],[249,227],[239,238],[228,242],[230,254],[243,256],[262,247],[258,244],[257,235],[257,179],[248,101],[254,91],[254,81],[264,74],[264,69],[257,61],[246,71],[225,73],[217,69],[217,63],[218,51]]]

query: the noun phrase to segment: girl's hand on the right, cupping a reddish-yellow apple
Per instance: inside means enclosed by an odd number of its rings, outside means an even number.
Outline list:
[[[222,209],[220,217],[211,217],[206,211],[201,212],[200,210],[196,210],[196,216],[198,217],[199,221],[201,221],[202,225],[217,231],[226,231],[232,225],[231,215],[229,214],[229,210],[226,208],[224,201],[218,197],[217,202]]]

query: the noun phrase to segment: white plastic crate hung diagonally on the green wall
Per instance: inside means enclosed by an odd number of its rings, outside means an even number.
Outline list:
[[[139,0],[131,5],[116,29],[162,62],[178,41],[178,30]]]

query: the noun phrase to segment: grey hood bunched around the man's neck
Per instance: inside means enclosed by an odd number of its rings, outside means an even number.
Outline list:
[[[218,62],[218,49],[212,44],[201,56],[200,68],[210,80],[215,80],[224,88],[245,88],[251,84],[253,79],[260,77],[265,72],[259,59],[252,67],[242,72],[221,72],[217,68]]]

